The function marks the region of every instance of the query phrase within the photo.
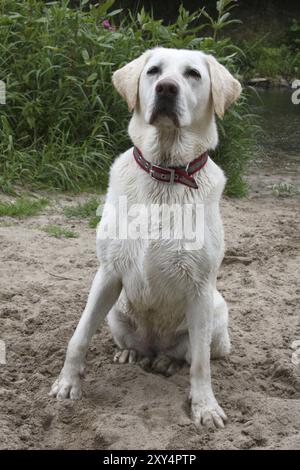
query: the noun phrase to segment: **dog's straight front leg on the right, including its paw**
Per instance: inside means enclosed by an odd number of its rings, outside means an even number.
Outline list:
[[[187,308],[191,343],[191,407],[197,426],[224,427],[226,415],[214,396],[210,374],[213,330],[213,287],[206,285]]]

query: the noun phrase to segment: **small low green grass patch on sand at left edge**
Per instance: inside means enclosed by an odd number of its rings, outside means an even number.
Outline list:
[[[37,215],[44,207],[49,204],[48,199],[29,199],[20,197],[14,202],[1,202],[0,201],[0,217],[17,217],[19,219]]]

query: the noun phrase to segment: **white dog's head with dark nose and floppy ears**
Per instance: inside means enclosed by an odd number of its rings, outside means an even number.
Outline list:
[[[210,109],[219,117],[239,97],[240,83],[213,56],[200,51],[156,48],[113,74],[129,110],[147,124],[189,127]]]

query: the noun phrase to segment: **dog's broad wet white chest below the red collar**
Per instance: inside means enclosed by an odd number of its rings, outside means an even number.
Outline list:
[[[201,288],[208,273],[219,264],[222,229],[218,207],[210,208],[210,201],[205,205],[201,192],[153,182],[126,159],[120,161],[116,170],[112,172],[107,198],[114,210],[107,211],[103,225],[114,215],[118,224],[125,223],[126,227],[122,237],[117,234],[113,239],[98,239],[100,262],[120,275],[128,300],[136,308],[177,309],[195,289]],[[123,214],[121,200],[126,203]],[[167,215],[156,222],[154,217],[153,224],[153,213],[164,205]],[[138,212],[142,213],[136,220],[134,206],[139,206]],[[185,210],[190,217],[187,225],[193,225],[188,233]],[[163,231],[157,233],[157,225],[161,224]]]

